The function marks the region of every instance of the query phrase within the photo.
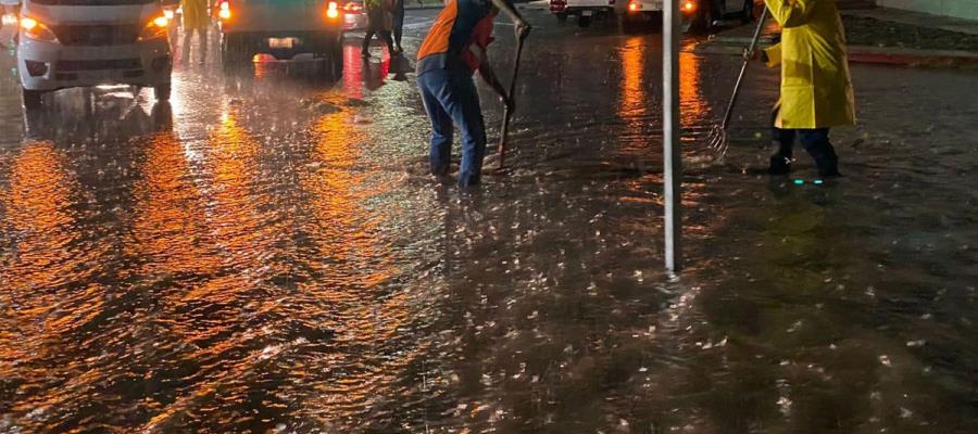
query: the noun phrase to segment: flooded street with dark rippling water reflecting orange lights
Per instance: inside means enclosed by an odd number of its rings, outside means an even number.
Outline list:
[[[337,84],[212,62],[27,115],[0,53],[0,433],[975,432],[978,73],[853,66],[845,177],[799,150],[795,186],[751,175],[754,65],[669,279],[659,33],[526,14],[512,169],[472,192],[426,175],[413,56],[359,38]],[[702,161],[739,59],[680,67]]]

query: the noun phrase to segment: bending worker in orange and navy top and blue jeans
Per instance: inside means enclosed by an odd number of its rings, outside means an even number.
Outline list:
[[[486,125],[473,80],[476,71],[512,112],[512,95],[506,94],[496,78],[487,58],[492,22],[499,12],[513,21],[517,38],[529,34],[529,24],[510,0],[449,0],[417,53],[417,87],[431,120],[431,174],[449,174],[452,129],[459,125],[462,130],[460,187],[479,184],[486,157]]]

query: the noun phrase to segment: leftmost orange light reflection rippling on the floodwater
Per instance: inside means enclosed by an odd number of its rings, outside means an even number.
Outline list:
[[[77,379],[85,361],[64,359],[62,345],[67,343],[61,341],[103,312],[106,288],[79,283],[101,271],[98,260],[112,246],[83,239],[78,225],[86,215],[74,206],[82,186],[53,143],[25,144],[12,161],[9,179],[9,190],[0,191],[5,210],[0,225],[17,237],[0,273],[0,378],[24,378],[29,370],[43,369],[30,380],[61,382],[18,400],[12,413],[73,407],[78,403],[71,401],[72,390],[84,386]],[[21,427],[47,430],[35,420],[24,420]]]

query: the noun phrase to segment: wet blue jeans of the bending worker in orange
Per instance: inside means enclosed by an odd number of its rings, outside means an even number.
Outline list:
[[[462,130],[459,186],[477,186],[486,157],[486,124],[472,73],[465,68],[431,69],[417,77],[431,120],[431,174],[448,175],[452,164],[453,124]]]

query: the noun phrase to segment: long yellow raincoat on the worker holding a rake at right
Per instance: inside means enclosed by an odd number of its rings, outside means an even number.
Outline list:
[[[775,126],[828,128],[855,124],[845,34],[836,0],[764,0],[781,25],[781,43],[766,50],[781,65]]]

